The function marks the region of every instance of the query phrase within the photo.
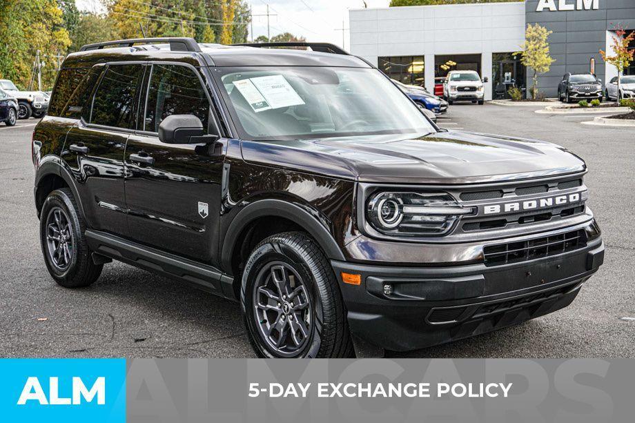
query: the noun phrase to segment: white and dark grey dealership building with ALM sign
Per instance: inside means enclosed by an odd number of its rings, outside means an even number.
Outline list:
[[[612,52],[618,26],[635,28],[635,0],[527,0],[438,6],[357,9],[349,12],[350,50],[390,77],[433,90],[449,70],[476,70],[485,99],[502,98],[511,86],[531,86],[531,69],[515,52],[529,23],[549,35],[551,70],[538,86],[556,97],[566,72],[594,72],[603,83],[617,76],[599,50]],[[633,46],[635,47],[635,45]],[[635,65],[625,72],[635,75]]]

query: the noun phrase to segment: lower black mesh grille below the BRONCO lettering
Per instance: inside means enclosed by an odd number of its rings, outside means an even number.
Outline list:
[[[483,248],[483,253],[485,266],[500,266],[567,253],[586,245],[585,232],[580,229],[527,241],[490,245]]]

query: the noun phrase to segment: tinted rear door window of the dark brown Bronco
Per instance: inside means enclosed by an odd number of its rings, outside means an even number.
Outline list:
[[[108,66],[92,101],[91,124],[134,127],[135,98],[142,70],[141,65]]]

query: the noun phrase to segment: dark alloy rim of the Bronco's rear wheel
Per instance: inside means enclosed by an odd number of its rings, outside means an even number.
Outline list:
[[[46,246],[53,266],[61,271],[66,270],[70,266],[75,243],[70,219],[59,207],[52,208],[46,218]]]

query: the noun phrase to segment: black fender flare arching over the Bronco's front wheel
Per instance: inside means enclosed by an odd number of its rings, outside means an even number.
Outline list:
[[[222,242],[221,264],[226,271],[231,270],[232,253],[242,230],[255,219],[264,216],[284,217],[299,224],[317,241],[317,244],[320,244],[326,257],[334,260],[346,260],[333,235],[306,208],[280,199],[261,199],[248,204],[240,210],[232,219],[225,233]]]

